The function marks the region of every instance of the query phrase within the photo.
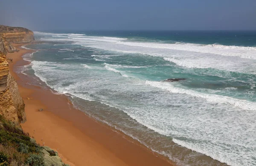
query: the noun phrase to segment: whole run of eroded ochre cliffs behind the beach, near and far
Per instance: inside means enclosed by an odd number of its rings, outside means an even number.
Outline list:
[[[9,63],[6,61],[6,54],[17,51],[10,43],[29,43],[34,40],[33,32],[28,29],[15,32],[15,27],[6,27],[8,33],[4,33],[3,26],[0,26],[0,114],[6,119],[19,124],[26,121],[25,104],[20,97],[17,83],[9,73]],[[28,31],[27,31],[28,30]],[[9,37],[9,41],[7,40]]]

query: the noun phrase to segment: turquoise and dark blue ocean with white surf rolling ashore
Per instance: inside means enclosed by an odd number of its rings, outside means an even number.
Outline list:
[[[256,166],[256,31],[34,33],[17,72],[90,117],[180,166]]]

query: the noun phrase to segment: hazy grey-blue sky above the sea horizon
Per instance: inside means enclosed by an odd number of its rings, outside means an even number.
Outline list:
[[[35,30],[256,30],[256,0],[0,0],[0,24]]]

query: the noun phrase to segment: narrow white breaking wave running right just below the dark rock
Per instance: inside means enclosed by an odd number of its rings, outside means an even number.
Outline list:
[[[194,97],[204,98],[205,100],[208,100],[210,102],[231,104],[241,109],[256,111],[256,103],[249,102],[247,100],[239,100],[232,97],[220,96],[216,94],[203,94],[203,93],[195,92],[192,90],[176,88],[171,83],[163,83],[163,82],[148,81],[148,80],[145,83],[150,86],[167,90],[171,93],[188,94]]]

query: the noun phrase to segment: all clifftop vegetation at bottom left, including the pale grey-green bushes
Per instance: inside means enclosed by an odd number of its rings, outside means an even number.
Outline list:
[[[67,166],[58,153],[40,146],[28,133],[0,115],[0,166]]]

